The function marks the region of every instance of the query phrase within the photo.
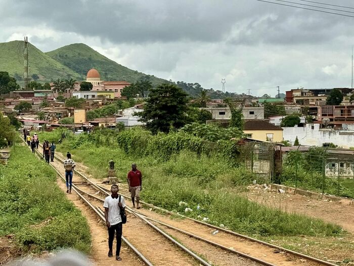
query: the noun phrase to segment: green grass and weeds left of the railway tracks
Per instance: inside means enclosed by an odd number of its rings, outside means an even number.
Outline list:
[[[57,186],[50,166],[15,145],[0,176],[0,236],[14,235],[23,252],[70,247],[90,252],[89,225]]]

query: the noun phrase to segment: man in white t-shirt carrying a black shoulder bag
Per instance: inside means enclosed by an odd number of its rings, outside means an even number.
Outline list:
[[[123,211],[126,207],[123,196],[120,196],[119,202],[119,195],[118,195],[118,185],[114,184],[111,186],[112,195],[108,196],[103,203],[103,207],[105,208],[105,218],[106,218],[106,225],[108,228],[108,256],[113,256],[113,240],[114,240],[114,233],[116,232],[116,252],[115,252],[115,259],[122,260],[119,256],[120,253],[120,246],[122,244],[122,218],[120,217],[120,211]]]

